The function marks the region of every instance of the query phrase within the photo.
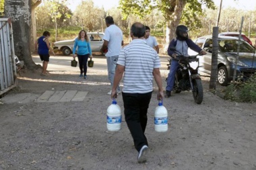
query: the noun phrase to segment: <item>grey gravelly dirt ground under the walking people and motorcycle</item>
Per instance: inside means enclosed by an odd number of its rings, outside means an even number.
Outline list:
[[[166,59],[161,57],[163,82]],[[38,56],[33,60],[40,63]],[[70,67],[70,60],[51,57],[47,77],[40,77],[39,71],[21,73],[18,88],[1,98],[0,169],[256,169],[255,103],[225,101],[210,93],[207,78],[202,78],[201,105],[191,92],[164,99],[168,132],[158,133],[153,92],[146,129],[150,153],[147,163],[139,164],[124,116],[119,132],[106,130],[111,99],[106,95],[110,84],[105,58],[95,56],[87,80]],[[88,93],[83,101],[37,102],[45,91]],[[19,98],[21,94],[30,98]],[[117,103],[123,110],[121,95]]]

